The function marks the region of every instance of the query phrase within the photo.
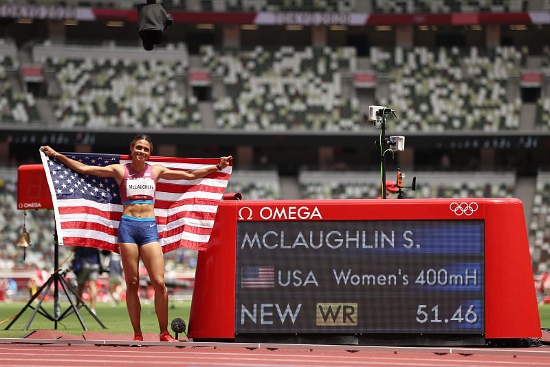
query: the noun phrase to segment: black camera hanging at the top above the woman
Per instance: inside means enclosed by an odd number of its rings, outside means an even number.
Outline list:
[[[174,23],[172,15],[166,12],[162,4],[156,0],[147,0],[147,3],[137,6],[139,20],[137,23],[143,48],[151,51],[162,42],[162,35],[166,27]]]

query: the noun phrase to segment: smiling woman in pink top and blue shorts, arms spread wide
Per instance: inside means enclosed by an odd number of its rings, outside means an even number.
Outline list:
[[[196,180],[228,167],[232,156],[222,156],[215,166],[181,171],[161,165],[149,165],[153,143],[145,134],[139,134],[130,143],[131,163],[104,167],[85,165],[58,153],[49,146],[41,147],[47,156],[56,158],[79,174],[114,178],[120,187],[122,218],[118,226],[118,247],[126,279],[126,307],[134,331],[134,340],[142,341],[140,326],[141,304],[139,291],[140,258],[147,269],[155,290],[155,312],[160,328],[161,342],[177,342],[168,333],[168,293],[164,284],[164,257],[155,221],[155,189],[159,179]]]

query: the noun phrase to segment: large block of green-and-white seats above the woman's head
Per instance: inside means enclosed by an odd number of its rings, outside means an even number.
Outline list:
[[[61,96],[54,114],[63,127],[201,127],[195,96],[186,92],[186,52],[181,59],[137,59],[135,48],[73,50],[66,56],[35,52],[45,72],[55,75]],[[129,57],[125,57],[129,56]],[[130,57],[134,56],[133,59]]]

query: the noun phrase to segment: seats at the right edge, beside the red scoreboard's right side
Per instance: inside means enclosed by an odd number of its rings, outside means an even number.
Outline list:
[[[539,171],[529,223],[529,247],[533,271],[549,271],[550,261],[550,172]]]

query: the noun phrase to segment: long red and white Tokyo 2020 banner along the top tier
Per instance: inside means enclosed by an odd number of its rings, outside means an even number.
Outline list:
[[[550,24],[550,12],[382,14],[366,12],[188,12],[168,9],[176,23],[258,25],[471,25]],[[137,22],[137,11],[3,4],[0,18]]]

